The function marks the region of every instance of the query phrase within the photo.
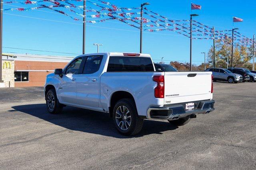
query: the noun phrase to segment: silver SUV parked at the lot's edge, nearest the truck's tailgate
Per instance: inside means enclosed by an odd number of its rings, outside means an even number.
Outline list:
[[[207,68],[205,71],[212,71],[214,81],[220,80],[229,83],[237,83],[243,81],[242,75],[234,74],[225,68]]]

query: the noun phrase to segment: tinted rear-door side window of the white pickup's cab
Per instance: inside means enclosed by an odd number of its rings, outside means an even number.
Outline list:
[[[84,65],[83,74],[93,74],[100,69],[103,56],[88,56]]]

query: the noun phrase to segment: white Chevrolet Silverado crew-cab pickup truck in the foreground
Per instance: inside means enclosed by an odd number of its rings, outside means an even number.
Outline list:
[[[46,77],[47,109],[74,106],[109,113],[123,135],[144,119],[184,125],[214,110],[212,72],[156,71],[148,54],[95,53],[74,58]]]

